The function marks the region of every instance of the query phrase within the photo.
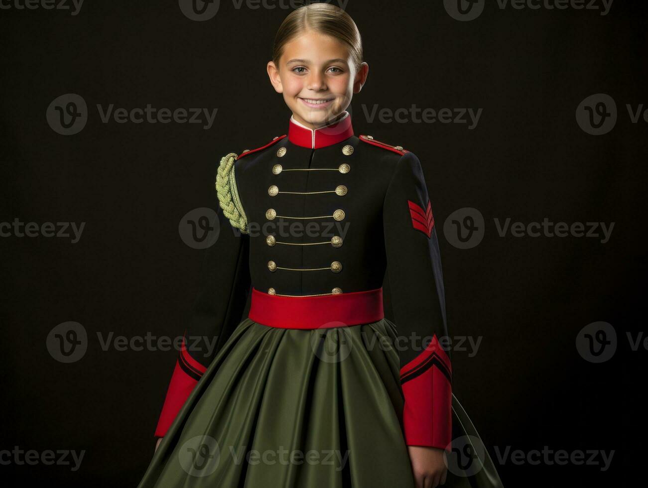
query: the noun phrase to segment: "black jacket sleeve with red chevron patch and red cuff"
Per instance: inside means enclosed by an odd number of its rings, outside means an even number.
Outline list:
[[[383,227],[398,330],[406,445],[447,448],[452,435],[450,356],[439,242],[421,163],[405,152],[389,182]]]

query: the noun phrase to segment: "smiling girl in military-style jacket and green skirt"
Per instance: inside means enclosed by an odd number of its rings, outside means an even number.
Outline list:
[[[297,8],[267,69],[288,134],[220,161],[220,235],[139,486],[501,486],[451,392],[421,163],[345,111],[369,71],[355,23]]]

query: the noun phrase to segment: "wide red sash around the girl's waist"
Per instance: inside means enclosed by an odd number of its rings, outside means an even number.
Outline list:
[[[270,295],[252,288],[248,318],[281,329],[329,329],[384,318],[382,287],[313,297]]]

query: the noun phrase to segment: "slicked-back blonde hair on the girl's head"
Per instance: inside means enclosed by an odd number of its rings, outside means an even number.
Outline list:
[[[272,61],[279,68],[284,46],[305,30],[314,30],[341,41],[351,52],[355,68],[362,64],[362,38],[351,16],[339,6],[329,3],[312,3],[296,8],[279,26],[272,46]]]

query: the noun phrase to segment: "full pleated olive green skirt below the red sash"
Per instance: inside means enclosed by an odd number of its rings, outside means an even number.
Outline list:
[[[387,319],[299,330],[246,318],[189,395],[139,487],[414,488],[396,335]],[[472,445],[479,436],[454,397],[452,423],[463,444],[459,462],[448,456],[445,486],[500,487],[487,453],[477,470],[460,462],[479,451]]]

